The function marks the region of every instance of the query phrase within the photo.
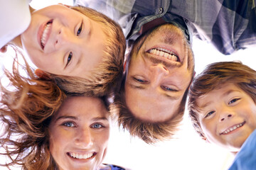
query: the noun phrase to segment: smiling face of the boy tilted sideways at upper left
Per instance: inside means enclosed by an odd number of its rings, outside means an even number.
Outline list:
[[[23,48],[36,67],[82,78],[102,62],[106,39],[102,24],[63,5],[34,11],[21,34]]]

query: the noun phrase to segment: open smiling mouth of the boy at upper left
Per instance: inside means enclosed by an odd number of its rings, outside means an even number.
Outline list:
[[[41,26],[41,29],[39,29],[39,44],[41,45],[42,50],[46,46],[46,42],[50,37],[52,25],[53,20],[50,20],[45,25]]]

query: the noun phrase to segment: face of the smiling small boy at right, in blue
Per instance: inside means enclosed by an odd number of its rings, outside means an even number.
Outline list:
[[[210,143],[238,152],[256,128],[256,105],[234,84],[223,84],[198,98],[199,121]]]

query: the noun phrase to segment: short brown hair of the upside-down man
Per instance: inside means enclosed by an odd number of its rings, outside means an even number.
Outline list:
[[[127,108],[124,99],[124,90],[115,94],[114,103],[110,106],[113,113],[118,115],[119,127],[129,131],[130,135],[137,136],[148,144],[154,144],[159,141],[169,140],[178,129],[178,125],[183,119],[183,113],[186,104],[188,89],[183,95],[181,105],[174,116],[164,122],[146,122],[136,118]]]

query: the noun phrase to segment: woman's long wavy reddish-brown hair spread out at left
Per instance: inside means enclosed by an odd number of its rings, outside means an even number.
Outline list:
[[[17,51],[16,51],[17,52]],[[25,61],[26,63],[26,61]],[[55,169],[48,144],[50,118],[65,94],[50,79],[40,79],[26,63],[21,76],[17,56],[13,72],[5,70],[9,86],[0,84],[1,154],[9,157],[2,166],[20,165],[22,169]]]

